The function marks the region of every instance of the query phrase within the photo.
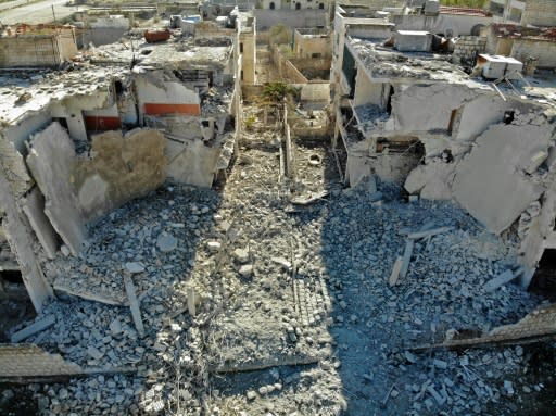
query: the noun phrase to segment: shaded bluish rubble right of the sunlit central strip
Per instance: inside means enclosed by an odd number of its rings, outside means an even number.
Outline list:
[[[330,165],[334,166],[333,161]],[[484,297],[482,278],[508,267],[508,259],[496,251],[500,240],[485,236],[460,209],[433,201],[408,203],[401,188],[389,184],[379,182],[378,198],[365,184],[342,189],[332,171],[325,178],[328,200],[292,216],[300,229],[321,224],[317,250],[324,267],[298,277],[325,281],[328,293],[320,294],[321,305],[327,294],[331,299],[326,316],[333,339],[331,361],[346,401],[342,415],[439,414],[446,407],[432,398],[426,401],[422,394],[416,400],[418,391],[408,387],[420,388],[432,380],[432,389],[440,390],[435,380],[445,376],[456,383],[468,380],[450,374],[450,367],[442,371],[431,364],[438,357],[443,365],[447,358],[442,353],[416,357],[404,355],[406,349],[442,342],[452,328],[480,331],[489,325],[515,323],[539,300],[515,285],[502,294]],[[434,241],[417,241],[409,272],[399,285],[389,286],[392,266],[404,253],[406,234],[426,227],[453,231]],[[491,254],[495,260],[488,259]],[[477,405],[484,411],[481,402]],[[534,414],[527,413],[532,408],[523,414]]]

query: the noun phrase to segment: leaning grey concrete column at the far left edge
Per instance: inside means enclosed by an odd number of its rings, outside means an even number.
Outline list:
[[[10,189],[10,182],[3,166],[0,166],[0,206],[5,212],[2,225],[10,248],[20,263],[23,282],[27,288],[33,306],[37,312],[40,312],[45,301],[53,295],[52,288],[47,282],[38,259],[33,251],[33,235],[23,211],[17,205],[15,196]]]

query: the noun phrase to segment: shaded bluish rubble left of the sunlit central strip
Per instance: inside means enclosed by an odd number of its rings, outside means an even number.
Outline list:
[[[38,404],[29,401],[39,413],[85,415],[100,406],[151,414],[160,403],[164,407],[180,377],[176,364],[184,364],[192,338],[188,290],[193,280],[207,281],[211,272],[211,251],[201,241],[222,240],[225,232],[215,220],[220,202],[212,189],[166,182],[90,224],[86,248],[77,257],[59,255],[49,265],[49,275],[62,279],[64,293],[56,291],[58,301],[43,313],[55,316],[58,324],[26,342],[81,368],[114,368],[114,375],[39,385]],[[124,275],[132,282],[144,336],[132,317]],[[106,293],[110,302],[122,304],[106,304]],[[119,374],[121,368],[131,374]],[[58,400],[67,390],[78,400]],[[181,403],[192,400],[194,395],[184,396]],[[14,412],[5,414],[20,414]]]

